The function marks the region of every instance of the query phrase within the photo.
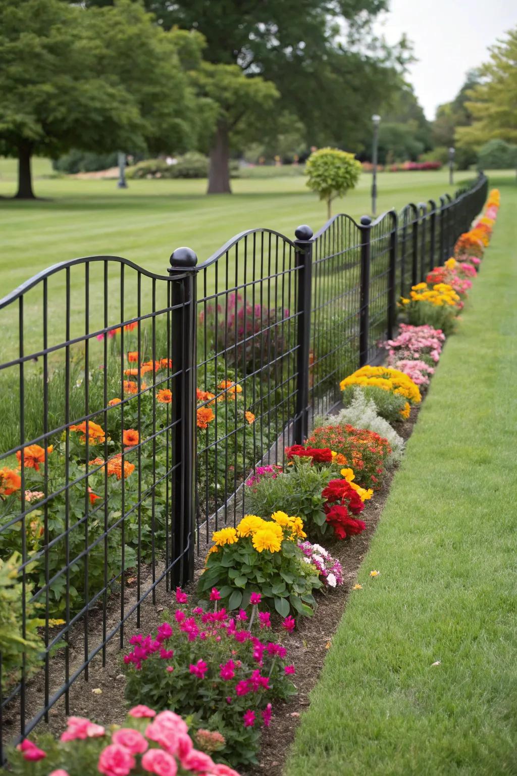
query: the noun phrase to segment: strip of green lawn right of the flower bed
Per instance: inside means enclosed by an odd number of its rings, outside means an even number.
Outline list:
[[[491,184],[495,236],[285,776],[517,773],[517,189]]]

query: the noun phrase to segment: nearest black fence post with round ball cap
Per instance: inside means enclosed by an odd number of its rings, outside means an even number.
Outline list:
[[[196,454],[196,334],[198,257],[190,248],[171,255],[171,357],[175,390],[172,400],[172,453],[174,471],[171,515],[172,584],[184,585],[194,577],[195,454]]]

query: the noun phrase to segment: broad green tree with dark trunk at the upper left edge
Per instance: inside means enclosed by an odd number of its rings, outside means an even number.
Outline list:
[[[2,0],[0,148],[19,159],[16,196],[33,197],[33,154],[188,147],[195,111],[181,57],[199,58],[200,38],[164,32],[129,0],[91,10]]]

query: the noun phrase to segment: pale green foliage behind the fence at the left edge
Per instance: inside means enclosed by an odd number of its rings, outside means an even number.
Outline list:
[[[22,633],[23,585],[18,568],[22,563],[20,553],[12,553],[5,560],[0,558],[0,654],[2,654],[2,694],[20,680],[22,656],[25,654],[26,677],[30,677],[41,664],[45,648],[38,628],[45,620],[37,616],[37,606],[30,603],[29,585],[25,592],[25,637]],[[26,566],[30,572],[32,565]]]

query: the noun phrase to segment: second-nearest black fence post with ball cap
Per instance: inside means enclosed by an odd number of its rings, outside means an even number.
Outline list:
[[[298,268],[298,364],[296,376],[296,413],[294,441],[302,445],[308,437],[308,370],[311,342],[312,298],[312,229],[302,224],[295,231],[296,266]]]

